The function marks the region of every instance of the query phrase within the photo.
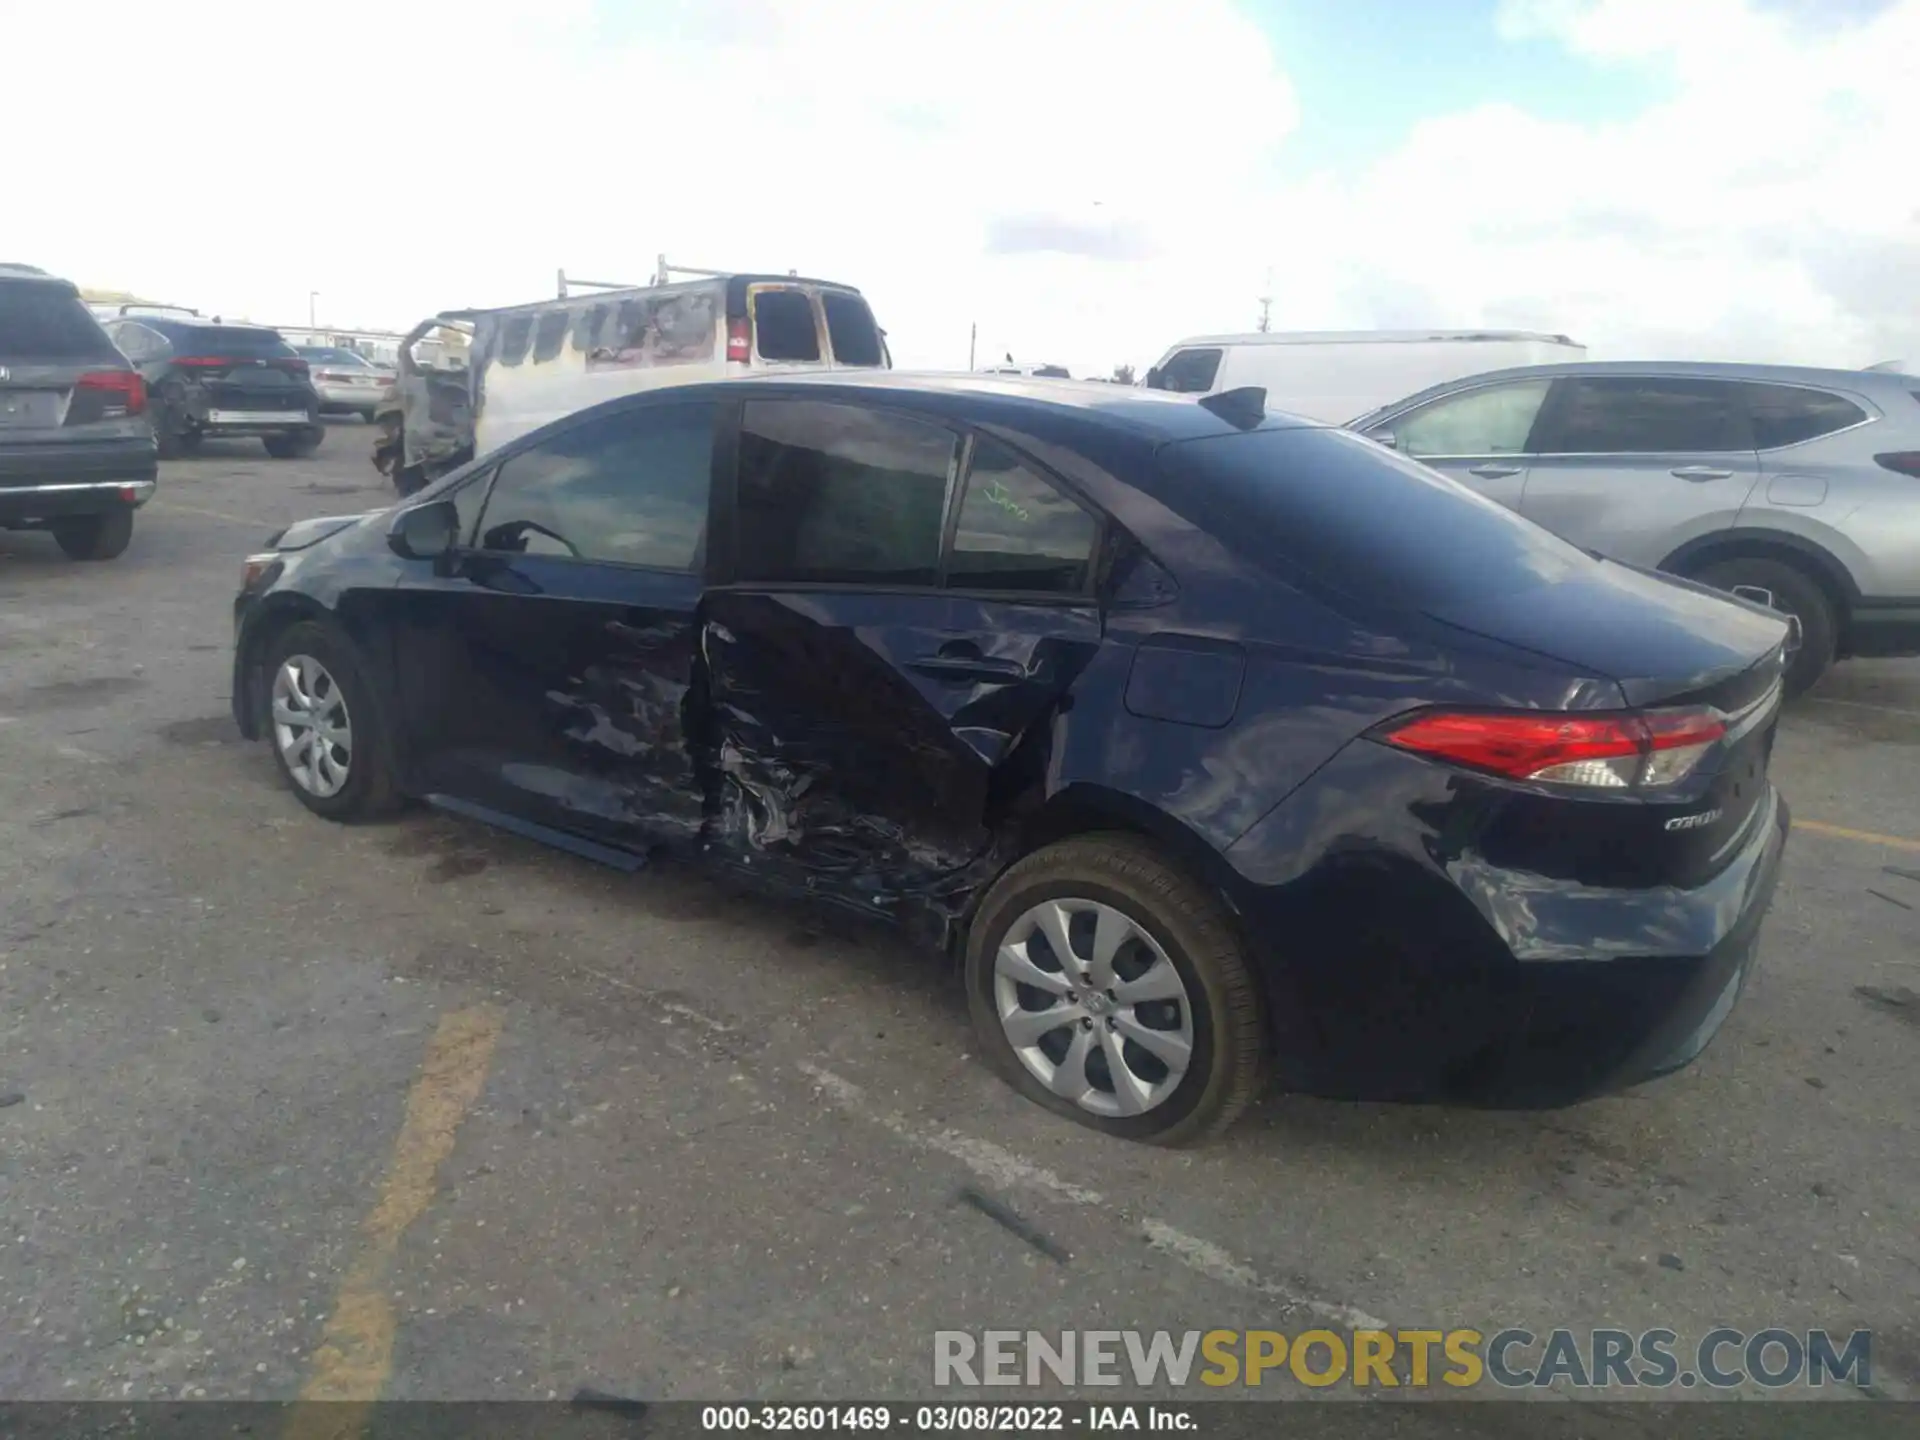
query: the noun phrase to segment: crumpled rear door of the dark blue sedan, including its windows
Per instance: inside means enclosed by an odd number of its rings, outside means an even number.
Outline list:
[[[1098,651],[1098,516],[885,405],[747,399],[732,478],[703,626],[710,849],[862,910],[964,897],[996,776],[1044,764],[1023,741]]]

